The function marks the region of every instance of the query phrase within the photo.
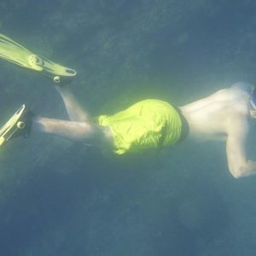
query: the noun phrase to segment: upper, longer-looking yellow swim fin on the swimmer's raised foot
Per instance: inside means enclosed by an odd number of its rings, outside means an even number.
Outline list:
[[[55,83],[59,83],[61,78],[72,78],[76,75],[75,70],[36,55],[3,34],[0,34],[0,58],[41,72],[53,78]]]

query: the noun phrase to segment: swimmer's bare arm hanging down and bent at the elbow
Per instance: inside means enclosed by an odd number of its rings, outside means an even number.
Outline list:
[[[256,174],[256,162],[247,160],[247,131],[247,119],[239,117],[230,122],[226,151],[230,173],[236,178]]]

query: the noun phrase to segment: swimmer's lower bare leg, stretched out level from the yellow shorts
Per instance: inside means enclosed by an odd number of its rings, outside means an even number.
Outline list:
[[[41,131],[100,148],[113,145],[113,137],[109,128],[90,122],[47,119],[37,116],[32,119],[32,131]]]

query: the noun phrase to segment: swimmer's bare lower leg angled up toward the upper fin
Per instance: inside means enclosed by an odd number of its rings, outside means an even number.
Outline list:
[[[67,109],[69,119],[79,122],[91,121],[90,114],[84,111],[79,102],[73,96],[73,93],[67,87],[55,86],[55,89],[61,95]]]

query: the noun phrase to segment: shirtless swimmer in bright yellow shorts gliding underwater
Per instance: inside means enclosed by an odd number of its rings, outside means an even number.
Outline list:
[[[65,104],[69,120],[48,119],[26,110],[15,121],[15,124],[18,121],[24,124],[21,126],[25,129],[16,129],[11,134],[11,129],[8,131],[7,125],[3,125],[0,144],[28,131],[40,131],[108,148],[115,154],[127,154],[147,148],[165,148],[190,137],[195,141],[225,142],[233,177],[256,173],[256,162],[248,160],[246,154],[248,120],[256,118],[256,89],[252,84],[236,83],[178,108],[168,102],[148,99],[119,113],[94,119],[66,86],[58,84],[55,88]]]

